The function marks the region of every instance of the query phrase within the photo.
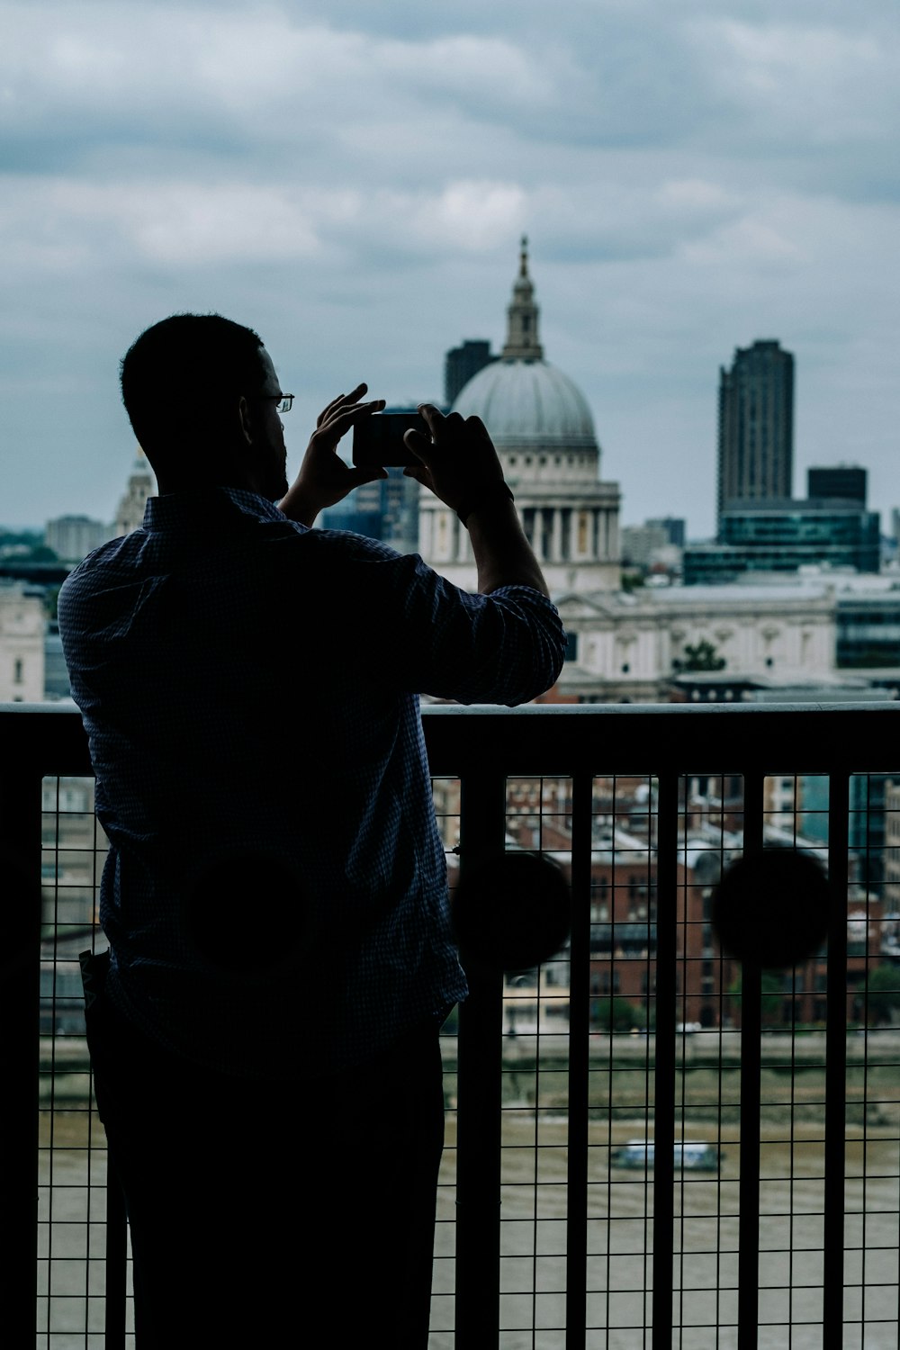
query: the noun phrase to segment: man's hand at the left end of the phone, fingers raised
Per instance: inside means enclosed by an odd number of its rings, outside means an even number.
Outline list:
[[[363,417],[371,417],[385,406],[383,398],[360,404],[367,385],[358,385],[349,394],[339,394],[316,418],[313,432],[300,473],[287,495],[282,497],[279,509],[289,520],[312,525],[320,510],[343,501],[354,487],[371,483],[376,478],[387,478],[387,470],[371,466],[356,468],[345,464],[337,455],[337,443],[349,428]]]

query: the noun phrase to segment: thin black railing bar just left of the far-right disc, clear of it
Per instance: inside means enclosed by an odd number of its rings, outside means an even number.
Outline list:
[[[675,1268],[675,1013],[679,937],[679,776],[660,775],[656,860],[653,1083],[653,1350],[672,1350]]]

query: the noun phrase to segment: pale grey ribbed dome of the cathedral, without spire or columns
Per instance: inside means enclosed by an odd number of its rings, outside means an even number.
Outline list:
[[[463,386],[453,412],[480,417],[498,448],[596,448],[584,394],[545,360],[493,362]]]

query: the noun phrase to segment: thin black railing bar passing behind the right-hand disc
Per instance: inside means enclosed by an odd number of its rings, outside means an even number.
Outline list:
[[[761,774],[743,776],[743,856],[762,852]],[[738,1350],[756,1350],[760,1319],[760,1110],[762,969],[741,965],[741,1180],[738,1191]]]

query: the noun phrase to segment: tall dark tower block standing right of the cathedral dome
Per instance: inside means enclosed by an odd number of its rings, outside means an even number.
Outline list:
[[[718,520],[731,502],[789,498],[793,356],[775,340],[738,347],[719,370]]]

